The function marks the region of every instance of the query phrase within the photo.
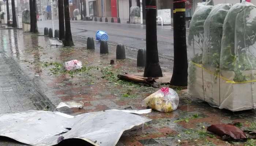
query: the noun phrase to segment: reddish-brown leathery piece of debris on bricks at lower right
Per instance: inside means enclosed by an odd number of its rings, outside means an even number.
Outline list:
[[[236,140],[247,139],[244,131],[231,124],[211,125],[207,128],[207,130],[219,135],[223,140],[229,138],[233,138]]]

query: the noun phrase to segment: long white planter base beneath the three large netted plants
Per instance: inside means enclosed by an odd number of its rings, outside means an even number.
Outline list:
[[[252,72],[256,73],[256,70],[244,71],[243,74],[251,75]],[[211,106],[230,111],[256,109],[255,82],[229,83],[226,80],[233,81],[234,72],[221,70],[216,76],[215,68],[202,71],[202,67],[192,62],[189,62],[188,73],[188,95],[192,98],[204,100]]]

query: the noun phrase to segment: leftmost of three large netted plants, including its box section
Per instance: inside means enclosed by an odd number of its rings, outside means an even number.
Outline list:
[[[193,57],[188,65],[188,94],[200,99],[204,99],[202,77],[204,22],[212,7],[212,5],[206,5],[206,3],[198,3],[189,27],[189,53],[191,54],[193,51]]]

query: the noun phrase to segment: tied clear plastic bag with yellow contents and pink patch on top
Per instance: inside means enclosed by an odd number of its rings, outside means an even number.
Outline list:
[[[172,112],[178,108],[179,96],[176,91],[166,87],[151,94],[142,102],[143,106],[147,108],[160,112]]]

